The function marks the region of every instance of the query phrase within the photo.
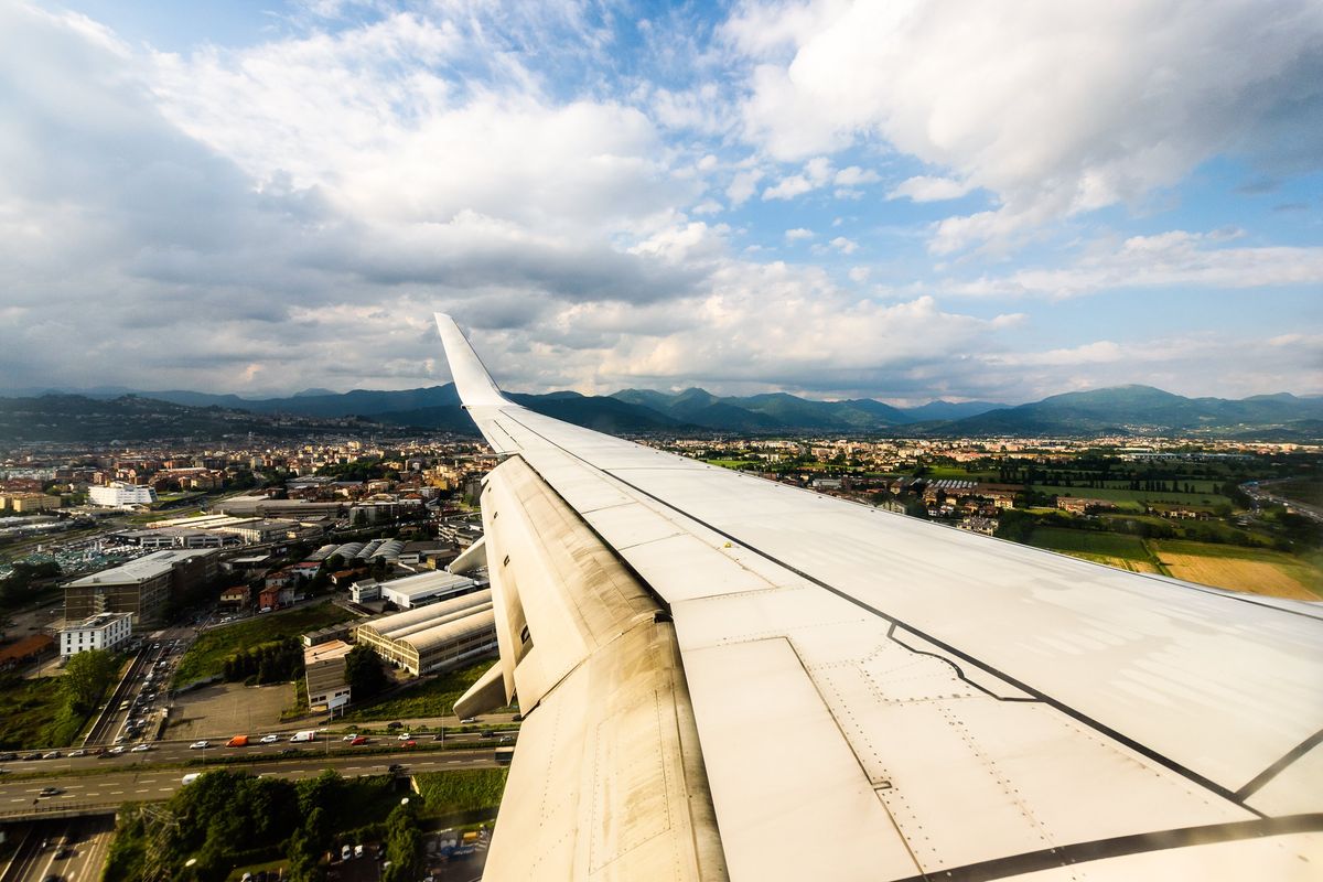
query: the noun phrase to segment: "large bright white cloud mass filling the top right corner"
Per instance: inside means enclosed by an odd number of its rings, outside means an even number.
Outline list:
[[[746,138],[773,157],[881,136],[998,197],[941,223],[938,254],[1135,202],[1220,151],[1323,156],[1314,0],[750,3],[725,34],[751,62]],[[897,194],[958,189],[935,180]]]

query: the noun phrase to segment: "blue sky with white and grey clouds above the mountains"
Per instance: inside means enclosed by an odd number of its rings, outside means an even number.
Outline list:
[[[1323,394],[1318,0],[0,0],[0,390]]]

